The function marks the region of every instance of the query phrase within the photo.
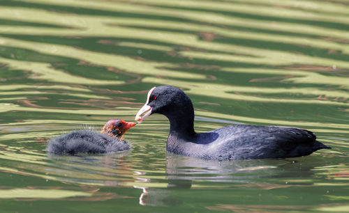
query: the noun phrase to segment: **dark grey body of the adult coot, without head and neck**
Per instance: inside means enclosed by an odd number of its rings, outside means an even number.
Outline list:
[[[170,136],[168,152],[202,159],[263,159],[310,155],[329,148],[313,132],[292,127],[232,125],[183,139]]]

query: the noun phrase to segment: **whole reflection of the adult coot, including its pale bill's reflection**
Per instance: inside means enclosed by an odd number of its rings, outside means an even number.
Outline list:
[[[146,175],[149,179],[140,180],[137,178],[138,182],[135,182],[135,184],[138,185],[133,187],[142,190],[139,198],[140,205],[174,206],[185,203],[185,199],[182,199],[179,194],[181,194],[180,191],[187,191],[188,189],[205,191],[205,187],[208,187],[207,190],[236,187],[237,190],[246,188],[269,190],[302,187],[304,182],[299,185],[297,181],[288,182],[287,180],[293,179],[301,182],[302,180],[313,180],[315,174],[313,169],[316,166],[326,164],[326,159],[320,156],[309,156],[297,160],[216,161],[168,154],[165,173],[167,175],[167,186],[156,186],[156,180],[149,178],[149,174],[142,173],[140,175]],[[147,184],[142,184],[142,182],[153,182],[155,187],[144,187]],[[311,181],[309,181],[309,184],[311,184]],[[223,193],[221,196],[222,198],[226,197],[226,194]]]

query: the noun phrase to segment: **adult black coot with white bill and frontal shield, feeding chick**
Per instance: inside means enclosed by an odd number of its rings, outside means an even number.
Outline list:
[[[313,132],[295,127],[230,125],[198,134],[190,98],[173,86],[151,88],[135,120],[141,123],[153,113],[170,120],[166,149],[177,155],[218,160],[285,158],[330,148],[316,141]]]

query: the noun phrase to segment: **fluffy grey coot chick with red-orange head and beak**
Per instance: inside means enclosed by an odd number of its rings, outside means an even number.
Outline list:
[[[76,155],[129,150],[131,145],[122,136],[133,126],[135,123],[112,119],[104,125],[101,132],[83,129],[51,139],[46,151],[59,155]]]

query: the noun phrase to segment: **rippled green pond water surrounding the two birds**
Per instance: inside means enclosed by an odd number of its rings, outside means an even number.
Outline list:
[[[1,1],[1,212],[349,212],[348,14],[348,1]],[[54,136],[133,120],[162,84],[191,97],[197,132],[295,126],[332,150],[181,157],[152,115],[129,152],[46,154]]]

